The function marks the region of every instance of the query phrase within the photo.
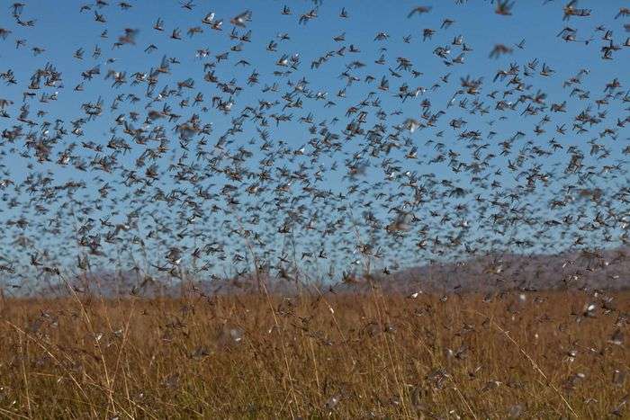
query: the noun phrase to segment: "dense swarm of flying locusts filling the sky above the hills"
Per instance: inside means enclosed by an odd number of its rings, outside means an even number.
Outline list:
[[[468,36],[431,5],[383,7],[399,27],[374,15],[357,31],[355,13],[379,7],[172,3],[150,25],[155,4],[73,5],[71,41],[39,6],[4,11],[5,287],[113,271],[136,273],[137,290],[353,281],[630,243],[630,91],[610,76],[630,68],[629,8],[448,5],[506,25],[523,24],[519,8],[553,15],[554,33],[529,41]]]

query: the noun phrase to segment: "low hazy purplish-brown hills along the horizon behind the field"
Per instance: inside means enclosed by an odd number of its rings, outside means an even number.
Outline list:
[[[464,262],[429,264],[411,267],[391,274],[374,273],[370,278],[382,290],[400,293],[491,292],[502,290],[600,290],[630,289],[630,248],[600,253],[561,255],[487,255]],[[166,281],[139,277],[135,272],[100,272],[76,277],[72,284],[78,293],[145,297],[177,296],[193,291],[206,295],[257,291],[253,275],[205,281]],[[266,277],[267,290],[293,294],[300,289],[295,281]],[[329,284],[320,284],[326,289]],[[334,286],[337,292],[360,292],[369,289],[365,277]],[[40,288],[36,294],[67,295],[65,285]]]

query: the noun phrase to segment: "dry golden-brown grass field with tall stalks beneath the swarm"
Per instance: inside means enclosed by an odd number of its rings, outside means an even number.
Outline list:
[[[630,294],[592,291],[5,299],[0,410],[628,418],[628,312]]]

